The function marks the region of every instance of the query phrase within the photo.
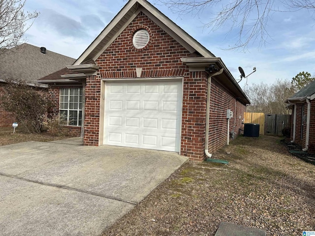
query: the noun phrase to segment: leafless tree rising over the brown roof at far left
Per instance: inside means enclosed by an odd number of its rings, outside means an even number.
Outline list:
[[[23,43],[24,33],[30,29],[38,12],[24,13],[26,0],[0,0],[0,55]]]

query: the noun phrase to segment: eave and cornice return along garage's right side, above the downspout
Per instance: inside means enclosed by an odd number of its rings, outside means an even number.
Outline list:
[[[189,66],[189,71],[205,71],[206,67],[209,67],[211,64],[215,64],[219,70],[223,68],[223,73],[221,75],[215,76],[215,78],[217,78],[234,95],[236,95],[237,100],[243,104],[251,103],[221,58],[181,58],[181,60],[183,63]]]

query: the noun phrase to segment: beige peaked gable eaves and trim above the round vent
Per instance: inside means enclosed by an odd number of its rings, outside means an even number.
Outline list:
[[[205,58],[215,57],[147,0],[129,0],[73,65],[79,65],[91,59],[96,60],[141,11],[190,53],[197,52]]]

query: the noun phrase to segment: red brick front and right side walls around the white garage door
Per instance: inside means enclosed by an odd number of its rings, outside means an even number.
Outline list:
[[[132,35],[137,29],[147,29],[150,42],[144,49],[132,45]],[[181,58],[190,53],[142,12],[95,60],[100,66],[96,76],[86,81],[84,145],[99,144],[100,86],[102,78],[136,78],[136,68],[142,68],[141,77],[184,77],[181,154],[192,160],[205,158],[205,121],[207,77],[205,72],[189,72]],[[226,109],[234,112],[230,129],[236,134],[242,123],[245,106],[236,101],[223,86],[214,80],[211,99],[211,150],[226,143]],[[241,118],[239,118],[241,116]]]

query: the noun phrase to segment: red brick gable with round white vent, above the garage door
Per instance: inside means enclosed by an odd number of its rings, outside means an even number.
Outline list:
[[[138,50],[132,45],[136,29],[147,29],[150,43]],[[168,35],[142,12],[95,61],[101,68],[99,78],[134,78],[135,68],[142,67],[142,77],[183,76],[186,65],[181,58],[189,55],[181,44]]]

